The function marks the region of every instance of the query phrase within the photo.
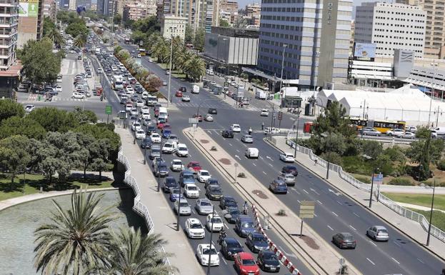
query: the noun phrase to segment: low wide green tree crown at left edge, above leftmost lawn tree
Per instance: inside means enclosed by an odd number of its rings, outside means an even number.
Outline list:
[[[39,122],[31,119],[29,116],[11,116],[4,119],[0,124],[0,139],[14,135],[26,136],[29,139],[43,139],[46,131]]]

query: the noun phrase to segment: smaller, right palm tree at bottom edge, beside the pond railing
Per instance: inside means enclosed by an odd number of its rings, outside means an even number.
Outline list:
[[[159,234],[143,235],[141,231],[121,228],[113,234],[109,266],[101,269],[107,275],[168,275],[177,271],[164,263],[161,246],[166,244]]]

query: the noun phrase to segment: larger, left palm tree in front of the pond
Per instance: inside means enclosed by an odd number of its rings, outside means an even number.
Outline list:
[[[106,263],[111,236],[108,224],[114,218],[109,208],[100,209],[102,196],[86,195],[86,190],[74,190],[71,208],[62,209],[53,200],[56,212],[51,224],[44,224],[34,232],[36,256],[34,266],[42,274],[84,274],[91,266]]]

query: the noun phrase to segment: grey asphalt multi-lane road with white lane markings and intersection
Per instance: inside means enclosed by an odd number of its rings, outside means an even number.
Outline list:
[[[126,49],[134,49],[129,45],[123,46],[126,47]],[[156,64],[150,63],[147,58],[142,58],[141,64],[160,76],[162,80],[168,80],[165,71]],[[189,83],[172,77],[172,94],[174,94],[174,91],[179,89],[180,86],[186,86],[187,89],[191,89]],[[166,87],[162,87],[161,92],[166,95]],[[109,96],[109,101],[115,109],[122,109],[115,96]],[[227,129],[230,124],[238,123],[241,124],[241,128],[246,131],[249,126],[251,126],[252,129],[259,129],[261,122],[264,122],[265,125],[267,125],[268,122],[270,123],[270,117],[260,117],[257,111],[236,109],[204,90],[201,90],[201,93],[198,95],[191,95],[190,104],[181,104],[180,99],[175,97],[172,101],[173,104],[177,106],[177,109],[172,109],[169,122],[171,122],[173,126],[174,133],[178,134],[180,139],[186,139],[181,135],[181,129],[189,126],[188,118],[191,117],[192,114],[196,114],[198,106],[201,105],[201,114],[204,114],[209,107],[217,108],[218,114],[215,116],[215,121],[203,122],[200,126],[208,130],[211,137],[232,155],[241,155],[246,147],[239,140],[241,138],[240,134],[237,134],[233,140],[223,139],[220,136],[222,129]],[[284,114],[284,123],[292,124],[287,114]],[[277,157],[278,151],[262,141],[262,137],[261,134],[254,134],[254,146],[259,148],[261,156],[269,156],[269,158],[264,157],[256,161],[241,159],[240,162],[245,169],[249,169],[251,174],[256,176],[257,179],[263,179],[261,182],[267,185],[269,184],[269,180],[276,177],[278,171],[281,170],[284,164],[281,163]],[[191,146],[189,146],[189,150],[191,150],[189,159],[199,161],[205,169],[211,171],[211,174],[219,175],[219,172],[211,167],[211,164],[204,156],[199,154],[199,152]],[[167,161],[169,161],[169,159],[167,159]],[[299,176],[295,189],[291,189],[289,194],[279,196],[279,198],[294,211],[298,210],[297,201],[299,200],[316,201],[316,218],[308,221],[308,224],[326,240],[326,244],[328,245],[332,245],[329,241],[336,232],[349,231],[353,234],[358,241],[357,248],[355,250],[339,251],[339,253],[354,264],[363,274],[436,275],[440,273],[444,267],[444,262],[441,261],[441,259],[431,255],[424,248],[404,236],[404,234],[399,233],[399,231],[393,229],[389,224],[376,218],[376,216],[369,211],[349,199],[348,196],[330,191],[329,184],[326,184],[326,182],[319,179],[308,169],[298,164],[297,166],[299,168]],[[222,176],[219,175],[219,179],[223,180]],[[240,203],[241,198],[236,194],[236,191],[231,189],[226,182],[224,182],[224,186],[226,187],[224,193],[236,196]],[[365,232],[371,225],[386,226],[391,236],[390,241],[387,243],[375,243],[369,240],[365,236]],[[229,234],[233,234],[233,231],[229,231]],[[272,236],[272,238],[278,241],[277,236]],[[199,243],[199,241],[191,241],[192,247],[196,248],[197,243]],[[284,251],[289,251],[286,250],[284,244],[281,245]],[[336,247],[334,247],[334,249],[336,249]],[[303,274],[309,272],[307,270],[305,272],[305,268],[301,268],[301,263],[297,262],[297,264],[299,264],[300,269],[303,269]]]

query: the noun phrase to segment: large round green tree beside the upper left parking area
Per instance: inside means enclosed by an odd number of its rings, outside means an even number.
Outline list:
[[[22,71],[34,84],[54,83],[61,68],[61,58],[53,53],[53,42],[29,40],[21,54]]]

